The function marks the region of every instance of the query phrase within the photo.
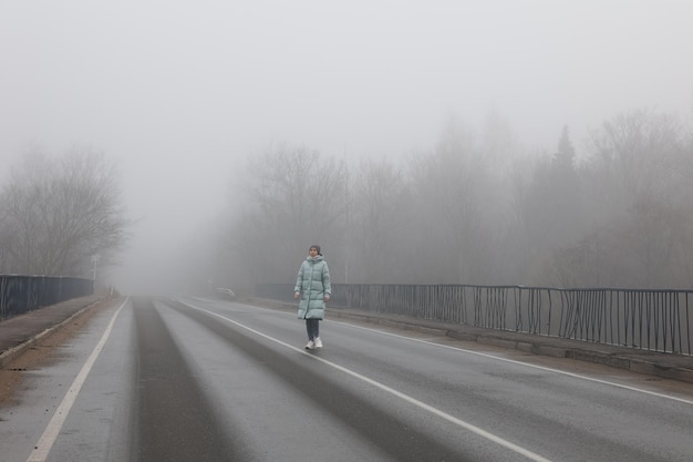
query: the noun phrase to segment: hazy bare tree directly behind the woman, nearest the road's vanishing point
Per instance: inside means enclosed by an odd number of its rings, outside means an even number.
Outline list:
[[[270,146],[250,165],[250,185],[229,234],[236,265],[263,280],[294,277],[311,244],[335,249],[343,238],[346,166],[303,146]],[[339,265],[332,258],[331,266]]]

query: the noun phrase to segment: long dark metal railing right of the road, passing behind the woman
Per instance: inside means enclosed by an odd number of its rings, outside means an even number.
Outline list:
[[[293,302],[293,285],[256,296]],[[333,284],[330,304],[488,329],[693,355],[693,290]]]

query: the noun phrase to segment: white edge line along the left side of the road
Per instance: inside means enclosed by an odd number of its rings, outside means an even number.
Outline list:
[[[48,423],[48,427],[43,431],[43,434],[39,439],[39,442],[34,446],[33,451],[31,451],[29,459],[27,459],[27,462],[44,462],[45,459],[48,458],[48,454],[51,452],[51,448],[53,446],[53,443],[55,443],[55,440],[58,439],[58,434],[60,433],[60,430],[62,429],[63,424],[65,423],[65,420],[68,419],[68,414],[70,413],[72,405],[77,399],[77,394],[80,393],[80,390],[82,389],[82,386],[84,384],[84,381],[86,380],[86,377],[92,370],[94,362],[96,362],[96,358],[99,358],[99,355],[101,353],[103,346],[108,339],[108,336],[111,336],[111,331],[113,330],[113,325],[115,324],[115,318],[118,316],[118,314],[121,312],[123,307],[128,302],[128,300],[130,300],[130,297],[126,298],[125,301],[123,301],[123,305],[118,307],[118,309],[115,311],[115,314],[111,318],[111,321],[108,322],[108,326],[106,327],[106,330],[101,336],[101,340],[99,340],[99,343],[96,343],[94,351],[92,351],[92,353],[86,359],[86,362],[84,363],[84,366],[82,366],[82,370],[80,371],[77,377],[74,379],[74,382],[72,382],[72,386],[70,387],[70,389],[68,390],[68,393],[65,393],[65,397],[63,398],[62,402],[55,410],[55,413],[51,418],[51,421]]]

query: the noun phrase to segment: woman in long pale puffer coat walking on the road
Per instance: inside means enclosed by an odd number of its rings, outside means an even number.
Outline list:
[[[293,299],[301,299],[299,319],[306,319],[307,350],[322,348],[319,322],[324,319],[324,304],[330,300],[331,294],[328,263],[320,253],[320,246],[310,246],[308,258],[299,268],[293,288]]]

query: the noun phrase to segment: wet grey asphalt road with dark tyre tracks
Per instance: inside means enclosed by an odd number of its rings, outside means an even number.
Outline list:
[[[0,461],[693,460],[689,383],[334,320],[322,350],[304,337],[237,302],[114,305],[29,373]]]

